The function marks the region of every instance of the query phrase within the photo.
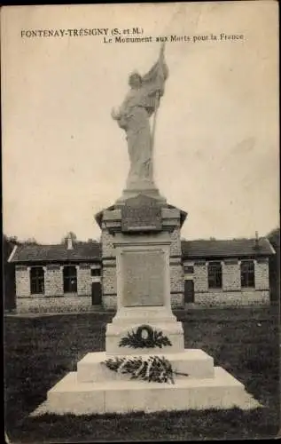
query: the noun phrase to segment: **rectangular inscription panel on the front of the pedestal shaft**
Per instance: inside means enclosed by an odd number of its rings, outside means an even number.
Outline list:
[[[164,305],[165,255],[157,251],[121,253],[123,306]]]

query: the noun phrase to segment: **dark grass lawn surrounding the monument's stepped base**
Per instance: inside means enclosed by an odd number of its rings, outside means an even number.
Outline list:
[[[264,408],[144,415],[28,417],[46,392],[89,352],[105,349],[113,314],[81,313],[4,320],[5,431],[19,443],[118,440],[223,440],[277,435],[279,314],[277,308],[176,313],[185,347],[211,354]]]

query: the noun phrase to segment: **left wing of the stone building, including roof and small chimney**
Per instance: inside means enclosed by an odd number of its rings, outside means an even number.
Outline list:
[[[98,242],[19,245],[9,262],[15,264],[18,313],[88,311],[102,304]]]

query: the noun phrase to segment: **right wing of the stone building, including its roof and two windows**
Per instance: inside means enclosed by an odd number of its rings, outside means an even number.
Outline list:
[[[183,241],[184,301],[199,305],[269,304],[269,240]]]

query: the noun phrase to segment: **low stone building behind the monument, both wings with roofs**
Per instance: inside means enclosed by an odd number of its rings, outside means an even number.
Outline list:
[[[116,266],[106,235],[101,243],[16,246],[9,262],[15,266],[17,312],[115,309]],[[177,243],[170,256],[174,308],[269,305],[269,257],[275,251],[268,239]]]

